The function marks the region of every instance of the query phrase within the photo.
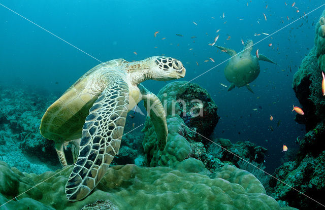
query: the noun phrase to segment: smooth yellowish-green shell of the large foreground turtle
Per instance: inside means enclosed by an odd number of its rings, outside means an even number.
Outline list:
[[[91,68],[46,110],[41,120],[41,134],[56,143],[80,138],[89,109],[101,94],[94,88],[95,80],[102,73],[100,69],[126,62],[121,58],[114,59]]]

